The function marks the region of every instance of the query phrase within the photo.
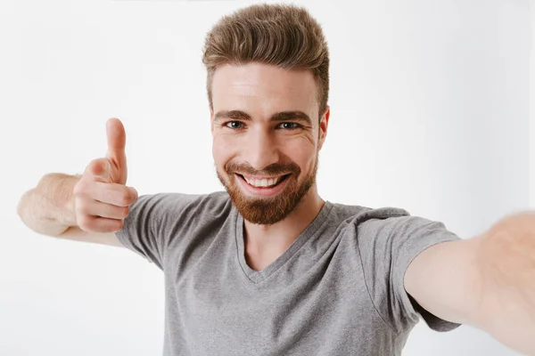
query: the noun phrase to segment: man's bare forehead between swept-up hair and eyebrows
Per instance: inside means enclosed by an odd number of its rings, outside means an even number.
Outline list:
[[[260,63],[222,66],[216,70],[212,80],[214,110],[254,107],[272,111],[311,111],[317,110],[316,93],[311,72]]]

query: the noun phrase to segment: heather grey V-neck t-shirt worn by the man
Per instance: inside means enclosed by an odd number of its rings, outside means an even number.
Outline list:
[[[262,271],[245,262],[225,191],[141,196],[116,235],[164,272],[164,356],[400,355],[420,315],[458,327],[424,311],[403,277],[425,248],[459,238],[404,209],[327,201]]]

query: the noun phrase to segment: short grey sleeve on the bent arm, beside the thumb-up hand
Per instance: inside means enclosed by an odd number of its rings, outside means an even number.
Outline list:
[[[180,220],[182,212],[196,195],[158,193],[142,195],[130,206],[123,228],[115,232],[119,242],[163,270],[169,246],[169,227]]]

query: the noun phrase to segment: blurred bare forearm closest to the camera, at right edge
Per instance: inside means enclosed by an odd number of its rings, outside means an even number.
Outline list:
[[[535,214],[508,216],[479,239],[482,327],[535,355]]]

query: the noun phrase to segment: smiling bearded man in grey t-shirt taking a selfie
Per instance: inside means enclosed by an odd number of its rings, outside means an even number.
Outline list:
[[[137,196],[126,134],[81,176],[46,174],[18,206],[45,235],[127,247],[165,274],[165,355],[399,355],[422,316],[535,354],[535,223],[473,239],[395,207],[319,197],[330,109],[322,29],[253,5],[206,37],[213,157],[226,191]]]

